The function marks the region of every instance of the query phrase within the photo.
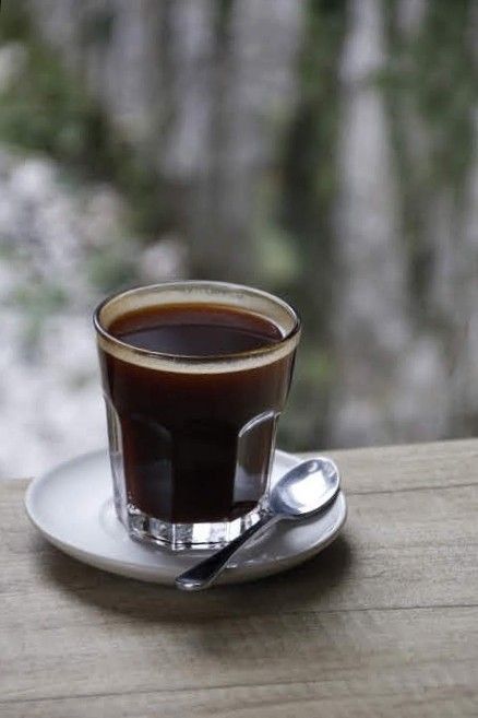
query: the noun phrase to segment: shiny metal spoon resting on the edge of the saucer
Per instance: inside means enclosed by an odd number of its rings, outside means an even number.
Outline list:
[[[284,474],[271,491],[266,513],[224,549],[176,578],[183,591],[200,591],[213,584],[231,556],[258,532],[282,519],[308,518],[325,508],[337,495],[340,476],[327,458],[309,459]]]

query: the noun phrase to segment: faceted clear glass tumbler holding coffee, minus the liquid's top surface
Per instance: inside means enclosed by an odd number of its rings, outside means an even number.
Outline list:
[[[119,317],[167,305],[235,309],[282,338],[237,354],[183,356],[110,333]],[[277,420],[300,337],[284,301],[223,282],[122,292],[96,309],[115,507],[132,539],[171,550],[218,548],[264,511]]]

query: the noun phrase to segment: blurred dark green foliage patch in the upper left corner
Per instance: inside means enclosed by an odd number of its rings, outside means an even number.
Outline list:
[[[100,15],[84,30],[107,35],[108,23],[108,16]],[[48,153],[81,176],[115,183],[133,208],[136,234],[167,226],[155,168],[110,126],[81,79],[39,40],[21,4],[9,3],[1,13],[0,43],[8,42],[21,43],[26,61],[16,82],[0,93],[0,140]]]

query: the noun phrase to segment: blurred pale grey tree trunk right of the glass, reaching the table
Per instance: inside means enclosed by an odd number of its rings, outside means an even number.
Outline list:
[[[410,402],[404,386],[411,341],[407,256],[385,104],[374,83],[385,57],[382,24],[379,0],[349,2],[338,142],[336,445],[387,443],[410,429],[404,423]]]

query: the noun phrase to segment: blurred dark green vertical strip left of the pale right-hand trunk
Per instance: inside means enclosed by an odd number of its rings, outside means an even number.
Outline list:
[[[327,395],[333,381],[333,360],[325,348],[331,344],[331,216],[337,191],[337,69],[346,27],[345,9],[345,0],[307,3],[299,102],[282,149],[277,222],[289,237],[300,272],[291,276],[287,291],[280,290],[301,309],[303,339],[279,440],[296,450],[325,442]]]

